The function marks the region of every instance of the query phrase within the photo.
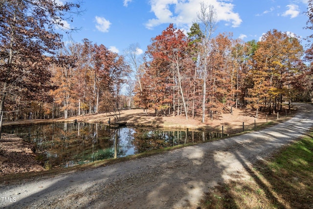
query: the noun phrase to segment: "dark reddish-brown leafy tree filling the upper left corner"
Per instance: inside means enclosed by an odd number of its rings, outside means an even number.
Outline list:
[[[1,0],[1,116],[7,96],[34,96],[49,86],[46,55],[61,46],[55,25],[64,26],[65,14],[78,7],[79,4],[58,4],[55,0]],[[2,117],[0,130],[1,123]]]

